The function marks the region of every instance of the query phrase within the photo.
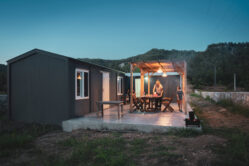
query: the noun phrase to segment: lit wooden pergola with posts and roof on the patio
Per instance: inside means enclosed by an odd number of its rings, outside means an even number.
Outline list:
[[[182,77],[183,108],[185,114],[187,114],[187,63],[185,61],[148,61],[148,62],[131,62],[130,63],[130,95],[133,93],[133,71],[135,68],[140,69],[140,96],[144,95],[144,75],[148,74],[148,94],[150,95],[150,77],[156,72],[166,74],[167,72],[177,72]],[[133,99],[130,100],[130,110],[132,110]]]

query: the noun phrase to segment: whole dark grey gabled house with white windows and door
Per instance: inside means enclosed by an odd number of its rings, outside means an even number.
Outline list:
[[[120,100],[123,72],[34,49],[8,61],[10,119],[60,124]]]

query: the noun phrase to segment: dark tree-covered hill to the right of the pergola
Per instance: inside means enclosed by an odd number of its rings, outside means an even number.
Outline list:
[[[214,83],[214,68],[218,85],[233,87],[233,75],[237,75],[237,86],[249,90],[249,43],[220,43],[209,45],[195,56],[188,65],[188,79],[196,86]]]

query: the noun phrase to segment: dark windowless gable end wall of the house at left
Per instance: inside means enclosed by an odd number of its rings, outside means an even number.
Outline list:
[[[8,67],[11,119],[59,124],[69,118],[66,59],[37,53]]]

